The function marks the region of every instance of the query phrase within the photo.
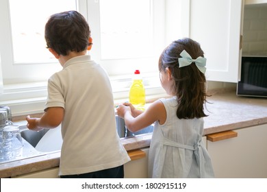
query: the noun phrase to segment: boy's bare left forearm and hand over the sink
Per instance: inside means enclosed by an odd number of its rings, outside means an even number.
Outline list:
[[[41,118],[31,118],[29,115],[26,117],[27,128],[29,130],[40,131],[44,128],[53,129],[58,127],[64,117],[64,108],[52,107],[47,108]]]

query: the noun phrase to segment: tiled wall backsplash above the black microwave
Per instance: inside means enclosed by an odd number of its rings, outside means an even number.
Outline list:
[[[267,56],[267,3],[244,7],[242,55]]]

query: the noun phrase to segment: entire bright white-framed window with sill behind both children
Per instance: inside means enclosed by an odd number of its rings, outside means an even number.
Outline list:
[[[144,76],[147,95],[162,93],[157,60],[171,40],[188,36],[188,2],[1,0],[0,105],[10,106],[15,116],[42,112],[47,79],[62,69],[46,49],[44,25],[51,14],[66,10],[78,10],[87,19],[90,55],[110,75],[115,99],[128,97],[135,69]]]

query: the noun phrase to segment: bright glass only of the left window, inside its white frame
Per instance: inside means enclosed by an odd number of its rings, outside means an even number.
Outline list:
[[[10,0],[9,8],[14,64],[57,62],[46,50],[44,25],[55,12],[76,10],[76,1]]]

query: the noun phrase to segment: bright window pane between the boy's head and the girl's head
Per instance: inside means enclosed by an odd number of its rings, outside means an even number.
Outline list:
[[[96,18],[97,16],[97,18]],[[110,76],[156,73],[165,43],[164,0],[88,1],[91,55]]]

